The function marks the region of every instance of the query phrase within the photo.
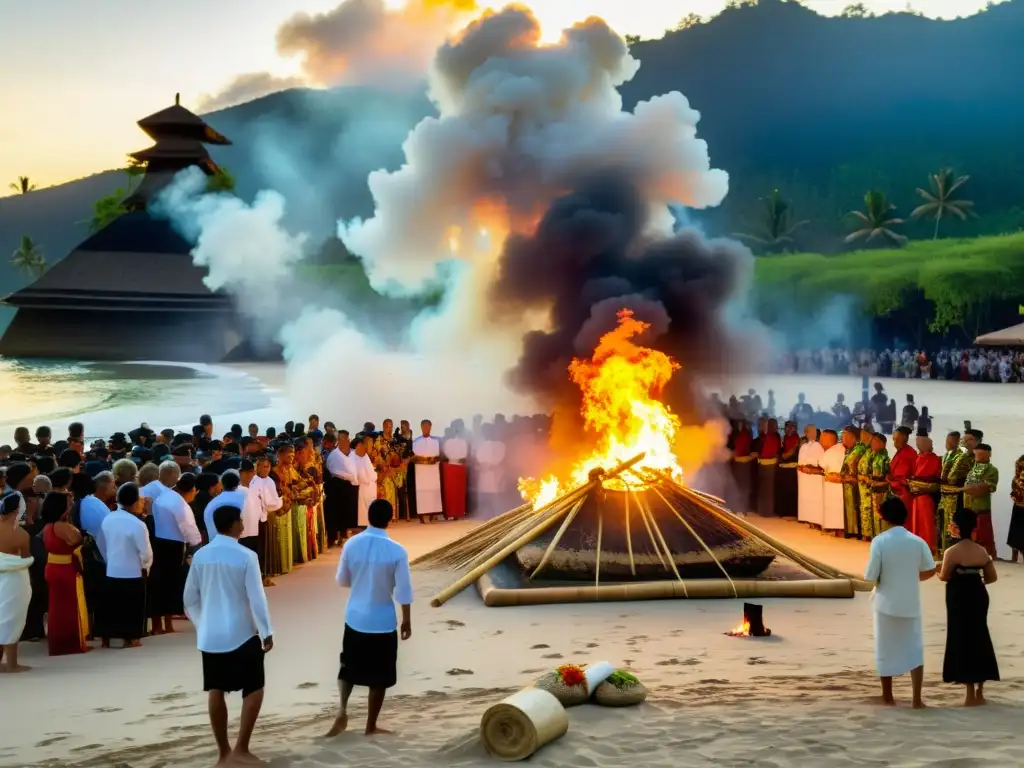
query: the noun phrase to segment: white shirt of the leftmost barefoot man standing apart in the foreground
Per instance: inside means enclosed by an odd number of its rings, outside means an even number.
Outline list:
[[[227,653],[254,635],[273,634],[256,553],[218,536],[193,556],[185,580],[185,613],[196,625],[196,645]]]

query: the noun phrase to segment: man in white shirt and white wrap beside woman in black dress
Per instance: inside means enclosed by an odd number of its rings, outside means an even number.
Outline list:
[[[892,527],[871,540],[864,578],[874,582],[874,665],[882,678],[882,701],[896,706],[893,678],[909,672],[913,708],[920,710],[925,706],[921,582],[935,575],[935,560],[928,544],[903,527],[907,510],[902,501],[890,497],[879,512]]]

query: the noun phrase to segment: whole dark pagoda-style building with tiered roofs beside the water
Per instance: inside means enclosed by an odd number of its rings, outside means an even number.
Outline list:
[[[206,287],[206,270],[193,263],[191,246],[147,211],[178,171],[198,166],[207,175],[217,173],[204,144],[230,141],[177,97],[138,126],[155,143],[131,156],[146,171],[125,201],[128,213],[4,299],[17,312],[0,339],[0,354],[208,362],[242,344],[230,298]]]

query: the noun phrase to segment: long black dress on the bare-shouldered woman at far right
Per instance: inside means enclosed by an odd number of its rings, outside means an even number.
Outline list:
[[[946,582],[946,654],[942,682],[985,683],[999,679],[988,634],[988,591],[980,568],[954,569]]]

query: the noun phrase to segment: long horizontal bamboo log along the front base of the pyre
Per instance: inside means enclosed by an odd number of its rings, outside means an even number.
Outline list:
[[[851,598],[854,596],[854,586],[847,579],[806,579],[793,582],[734,579],[732,584],[724,579],[687,579],[682,582],[666,579],[657,582],[630,582],[600,586],[506,589],[495,586],[489,574],[484,574],[477,582],[476,588],[484,605],[488,607],[685,598],[712,600],[729,599],[734,596],[741,599],[771,597]]]

